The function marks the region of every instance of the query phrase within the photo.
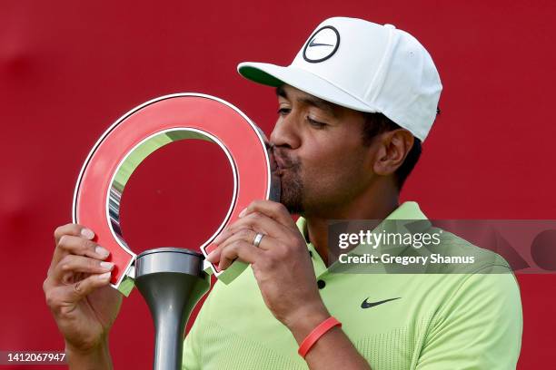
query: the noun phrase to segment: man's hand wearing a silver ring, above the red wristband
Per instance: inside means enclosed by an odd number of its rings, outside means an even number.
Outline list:
[[[263,234],[258,248],[253,244],[257,233]],[[318,323],[330,316],[305,240],[283,204],[253,201],[213,243],[218,247],[207,259],[218,262],[219,269],[228,268],[235,258],[250,263],[264,303],[294,336],[307,317]]]

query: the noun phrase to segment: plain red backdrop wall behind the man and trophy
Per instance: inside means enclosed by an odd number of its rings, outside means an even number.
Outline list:
[[[0,350],[64,348],[42,282],[53,230],[71,221],[74,181],[101,133],[135,105],[179,92],[221,97],[270,133],[277,108],[272,89],[244,81],[235,66],[290,63],[328,16],[410,31],[441,73],[442,115],[403,200],[418,200],[434,219],[554,219],[556,5],[461,3],[3,0]],[[173,144],[155,153],[124,195],[132,248],[198,245],[223,215],[230,173],[209,144]],[[519,368],[546,368],[556,362],[556,277],[519,282]],[[137,292],[125,299],[111,336],[116,368],[150,368],[150,320]]]

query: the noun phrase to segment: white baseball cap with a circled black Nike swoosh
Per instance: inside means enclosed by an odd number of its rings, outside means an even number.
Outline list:
[[[442,91],[431,55],[392,24],[334,17],[319,24],[287,67],[240,63],[243,77],[287,83],[360,112],[381,112],[421,141],[436,117]]]

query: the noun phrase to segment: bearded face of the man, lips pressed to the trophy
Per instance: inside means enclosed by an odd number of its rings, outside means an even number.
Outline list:
[[[372,146],[362,144],[361,112],[283,85],[271,134],[281,202],[303,216],[341,216],[372,180]]]

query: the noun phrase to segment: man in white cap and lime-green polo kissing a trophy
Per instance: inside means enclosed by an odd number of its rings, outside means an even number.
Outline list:
[[[241,63],[239,72],[277,87],[270,142],[281,203],[253,201],[215,239],[210,261],[251,267],[216,283],[185,338],[184,368],[515,367],[521,302],[511,273],[335,274],[328,260],[329,219],[426,219],[416,203],[398,203],[442,90],[422,45],[389,24],[331,18],[292,65]],[[297,225],[290,212],[302,216]],[[121,301],[93,236],[80,225],[56,229],[45,280],[75,368],[110,367]],[[509,271],[492,260],[481,269]]]

